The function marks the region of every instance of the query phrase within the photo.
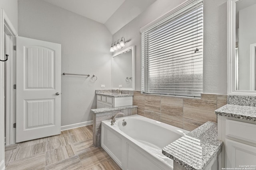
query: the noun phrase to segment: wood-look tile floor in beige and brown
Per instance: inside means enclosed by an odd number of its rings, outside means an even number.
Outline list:
[[[121,170],[92,144],[92,125],[5,147],[6,170]]]

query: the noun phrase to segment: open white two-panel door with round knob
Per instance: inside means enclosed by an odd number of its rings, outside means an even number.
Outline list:
[[[61,45],[16,39],[16,142],[60,134]]]

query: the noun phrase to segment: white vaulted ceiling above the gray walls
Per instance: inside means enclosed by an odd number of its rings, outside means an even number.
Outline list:
[[[103,23],[114,34],[156,0],[44,0]]]

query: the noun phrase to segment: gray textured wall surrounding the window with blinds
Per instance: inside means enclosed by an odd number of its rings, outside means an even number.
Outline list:
[[[125,37],[126,47],[136,45],[135,90],[141,90],[140,28],[185,0],[157,0],[137,18],[113,35],[113,41]],[[204,93],[227,94],[227,3],[204,0]]]

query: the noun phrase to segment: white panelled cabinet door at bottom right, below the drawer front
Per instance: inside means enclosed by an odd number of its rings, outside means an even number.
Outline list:
[[[227,168],[241,168],[242,165],[256,166],[256,147],[230,139],[226,139],[226,147]]]

